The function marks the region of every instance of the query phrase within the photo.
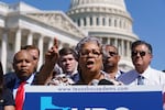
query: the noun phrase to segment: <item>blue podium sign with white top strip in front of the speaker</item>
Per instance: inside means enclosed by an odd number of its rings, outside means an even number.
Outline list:
[[[26,86],[23,110],[163,110],[161,86]]]

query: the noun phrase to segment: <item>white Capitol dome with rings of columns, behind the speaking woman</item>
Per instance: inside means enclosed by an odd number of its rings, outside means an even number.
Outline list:
[[[139,37],[133,33],[133,20],[124,0],[72,0],[67,15],[89,36],[117,46],[122,70],[133,68],[130,46]]]

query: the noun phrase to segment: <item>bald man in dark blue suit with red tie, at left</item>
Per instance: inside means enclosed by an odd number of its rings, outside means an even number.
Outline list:
[[[34,79],[35,65],[33,65],[33,57],[26,50],[21,50],[15,53],[13,57],[14,73],[4,75],[4,85],[13,91],[15,96],[16,89],[22,81],[25,85],[31,85]]]

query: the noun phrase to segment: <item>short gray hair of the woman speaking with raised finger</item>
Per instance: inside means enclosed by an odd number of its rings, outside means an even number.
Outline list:
[[[102,47],[102,43],[101,43],[101,41],[99,38],[94,37],[94,36],[86,36],[86,37],[81,38],[79,41],[79,43],[77,44],[77,46],[75,47],[77,55],[79,55],[79,52],[81,51],[82,45],[85,43],[87,43],[87,42],[95,42],[95,43],[97,43],[97,45],[100,47],[100,50]]]

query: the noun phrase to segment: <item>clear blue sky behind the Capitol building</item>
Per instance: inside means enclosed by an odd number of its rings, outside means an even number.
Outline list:
[[[0,0],[7,3],[24,1],[43,10],[67,11],[70,0]],[[133,18],[133,31],[152,44],[152,67],[165,69],[165,0],[125,0]]]

